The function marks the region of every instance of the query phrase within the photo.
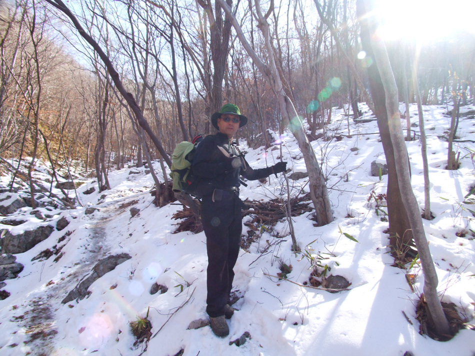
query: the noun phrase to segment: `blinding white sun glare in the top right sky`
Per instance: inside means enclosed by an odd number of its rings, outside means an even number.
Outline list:
[[[376,0],[379,33],[386,40],[450,40],[461,33],[475,36],[475,0]]]

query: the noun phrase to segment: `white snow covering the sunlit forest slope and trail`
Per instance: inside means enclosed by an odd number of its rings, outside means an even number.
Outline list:
[[[415,105],[411,105],[410,113],[411,122],[418,122]],[[449,123],[450,118],[444,113],[446,108],[442,106],[424,106],[431,211],[435,219],[424,220],[423,225],[442,300],[454,303],[473,323],[475,227],[472,214],[466,210],[470,206],[461,204],[474,184],[475,168],[465,149],[473,145],[457,143],[455,150],[461,151],[460,169],[444,169],[447,143],[437,137]],[[311,213],[305,213],[293,218],[293,226],[300,248],[309,253],[307,256],[328,257],[323,263],[331,268],[329,273],[350,281],[349,290],[332,294],[301,286],[309,279],[310,262],[302,253],[291,251],[288,224],[282,220],[273,232],[260,231],[260,239],[248,251],[241,249],[239,253],[234,291],[242,298],[234,305],[237,311],[228,321],[229,336],[218,338],[209,326],[187,330],[192,321],[207,319],[204,233],[174,234],[178,221],[172,215],[181,206],[175,203],[156,208],[149,194],[153,181],[144,174],[144,168],[131,175],[130,169],[122,169],[110,173],[110,191],[98,193],[97,183],[92,179],[80,186],[77,191],[83,207],[37,209],[50,215],[51,223],[60,217],[66,217],[70,223],[62,231],[54,230],[31,250],[16,255],[17,262],[25,267],[16,279],[6,280],[3,288],[11,295],[0,301],[1,355],[141,355],[145,344],[133,346],[129,322],[137,316],[145,317],[148,311],[153,337],[143,355],[174,356],[184,349],[184,356],[402,356],[407,351],[415,356],[472,356],[475,338],[471,330],[459,331],[448,342],[419,335],[415,319],[418,295],[409,289],[405,274],[416,275],[414,288],[420,293],[420,266],[416,264],[411,271],[391,266],[388,235],[384,234],[387,222],[381,221],[381,214],[376,215],[373,201],[367,201],[372,190],[384,193],[387,182],[387,176],[382,176],[382,180],[369,176],[371,161],[385,163],[379,135],[374,134],[378,132],[376,122],[356,125],[350,121],[348,127],[342,110],[335,110],[332,117],[327,135],[347,135],[349,130],[351,137],[343,136],[341,141],[320,139],[313,141],[312,146],[328,177],[335,220],[314,227]],[[405,119],[401,123],[405,125]],[[418,132],[417,127],[412,129]],[[472,119],[460,118],[458,130],[462,140],[475,139]],[[406,146],[414,194],[422,209],[420,142],[406,142]],[[281,152],[278,145],[266,151],[263,147],[252,150],[243,140],[240,147],[245,148],[246,159],[253,168],[265,167],[266,162],[274,164],[282,154],[287,168],[305,171],[301,153],[289,132],[282,137]],[[351,151],[353,147],[358,150]],[[155,170],[159,174],[158,164]],[[2,185],[7,181],[8,177],[3,177]],[[308,191],[305,179],[288,182],[293,196],[301,190]],[[282,175],[271,176],[265,184],[247,184],[241,189],[242,199],[268,200],[286,194]],[[90,187],[96,191],[82,194]],[[103,194],[105,197],[101,198]],[[140,209],[133,218],[129,213],[132,206]],[[86,207],[99,210],[85,215]],[[19,232],[39,224],[40,220],[29,215],[30,210],[23,208],[18,212],[23,214],[25,224],[2,227]],[[245,217],[243,222],[249,220]],[[247,230],[243,226],[244,234]],[[462,230],[466,230],[466,236],[458,237],[456,233]],[[351,235],[358,243],[342,233]],[[58,242],[65,235],[64,241]],[[57,262],[53,262],[54,256],[31,262],[41,251],[55,245],[64,245]],[[87,298],[61,304],[98,260],[119,253],[128,253],[131,259],[95,281]],[[288,279],[298,285],[271,277],[280,272],[278,260],[292,265]],[[154,283],[168,287],[168,291],[150,295]],[[42,319],[35,319],[34,310],[39,308],[44,309]],[[28,342],[36,324],[57,334]],[[229,345],[244,332],[251,336],[244,345]]]

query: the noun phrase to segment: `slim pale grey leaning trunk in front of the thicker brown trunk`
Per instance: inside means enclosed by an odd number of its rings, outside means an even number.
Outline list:
[[[358,0],[357,3],[366,6],[370,4],[372,0]],[[369,5],[366,10],[373,8]],[[363,11],[360,13],[369,13]],[[369,32],[376,33],[376,19],[372,16],[366,18]],[[394,146],[394,158],[396,164],[397,179],[399,183],[399,189],[404,195],[404,207],[406,208],[410,227],[416,242],[417,251],[419,254],[420,262],[422,265],[422,271],[424,273],[424,295],[427,302],[429,314],[432,321],[435,324],[437,334],[441,337],[444,335],[450,335],[450,329],[447,319],[443,314],[442,306],[437,296],[437,274],[432,261],[432,257],[429,251],[429,245],[425,238],[425,232],[422,225],[422,219],[420,217],[419,207],[417,200],[415,199],[412,187],[410,184],[410,175],[408,170],[408,157],[406,154],[406,147],[404,138],[402,135],[402,127],[400,124],[399,115],[399,103],[397,101],[397,87],[392,74],[392,69],[389,64],[389,58],[387,56],[384,42],[375,35],[370,37],[370,45],[374,53],[374,59],[378,66],[378,70],[382,79],[384,87],[387,117],[389,118],[389,133],[391,136],[392,144]]]

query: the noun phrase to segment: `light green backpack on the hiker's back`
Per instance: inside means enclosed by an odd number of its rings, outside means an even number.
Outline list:
[[[191,164],[193,162],[194,151],[202,139],[202,135],[194,136],[191,142],[182,141],[178,143],[173,150],[170,172],[170,177],[173,181],[171,188],[173,192],[185,192],[193,196],[198,196],[196,191],[198,180],[193,176]]]

